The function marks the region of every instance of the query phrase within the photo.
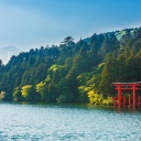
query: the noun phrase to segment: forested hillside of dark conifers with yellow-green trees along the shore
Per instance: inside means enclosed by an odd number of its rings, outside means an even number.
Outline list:
[[[1,100],[110,105],[113,82],[141,82],[141,28],[67,36],[0,62]]]

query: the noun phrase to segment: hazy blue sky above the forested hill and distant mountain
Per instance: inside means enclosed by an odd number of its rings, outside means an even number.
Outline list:
[[[0,46],[77,42],[94,33],[141,26],[141,0],[0,0]]]

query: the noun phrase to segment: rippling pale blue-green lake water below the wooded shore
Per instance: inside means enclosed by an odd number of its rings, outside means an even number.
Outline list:
[[[0,141],[140,140],[140,110],[0,102]]]

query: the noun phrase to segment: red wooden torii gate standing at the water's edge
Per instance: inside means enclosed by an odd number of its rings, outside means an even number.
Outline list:
[[[141,82],[138,83],[112,83],[116,86],[116,90],[118,90],[118,97],[113,97],[115,106],[126,106],[127,100],[126,96],[122,97],[122,90],[132,90],[132,97],[128,97],[128,106],[137,107],[141,106],[141,96],[137,96],[137,90],[139,90],[141,86]]]

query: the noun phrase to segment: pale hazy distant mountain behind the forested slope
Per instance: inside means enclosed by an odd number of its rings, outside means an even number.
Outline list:
[[[20,52],[21,50],[15,46],[2,46],[0,47],[0,59],[7,64],[12,55],[18,55]]]

